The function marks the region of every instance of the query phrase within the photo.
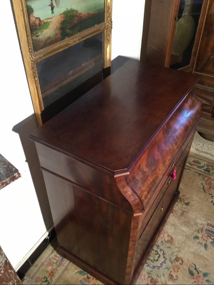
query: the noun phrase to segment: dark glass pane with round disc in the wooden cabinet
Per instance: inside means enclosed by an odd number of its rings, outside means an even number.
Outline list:
[[[170,58],[174,69],[189,65],[203,0],[181,0]]]

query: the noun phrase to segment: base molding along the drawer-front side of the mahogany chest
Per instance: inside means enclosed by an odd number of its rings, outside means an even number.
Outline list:
[[[171,205],[170,205],[169,209],[167,210],[166,215],[162,219],[162,221],[161,221],[161,223],[160,223],[160,225],[159,225],[159,227],[158,227],[158,229],[156,231],[156,234],[154,235],[154,237],[153,237],[153,239],[152,239],[152,241],[150,243],[150,246],[148,247],[148,250],[147,250],[146,254],[142,258],[142,260],[140,261],[136,271],[134,272],[131,284],[134,284],[134,282],[136,282],[138,276],[140,275],[140,272],[141,272],[143,266],[145,265],[145,262],[146,262],[148,256],[150,255],[150,252],[151,252],[154,244],[156,243],[156,241],[157,241],[157,239],[158,239],[158,237],[159,237],[163,227],[165,226],[165,223],[166,223],[166,221],[167,221],[167,219],[168,219],[168,217],[169,217],[169,215],[170,215],[170,213],[171,213],[175,203],[177,202],[179,195],[180,195],[180,191],[178,190],[178,192],[175,193],[175,196],[174,196],[174,198],[173,198],[173,200],[171,202]]]

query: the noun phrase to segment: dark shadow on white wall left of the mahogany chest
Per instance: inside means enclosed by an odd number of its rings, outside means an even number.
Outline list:
[[[29,139],[30,133],[37,129],[37,127],[35,114],[32,114],[25,120],[15,125],[12,131],[19,134],[26,157],[26,162],[28,163],[30,169],[40,209],[43,215],[44,223],[46,229],[49,229],[53,225],[53,219],[46,192],[45,181],[42,171],[40,170],[40,163],[35,143]]]

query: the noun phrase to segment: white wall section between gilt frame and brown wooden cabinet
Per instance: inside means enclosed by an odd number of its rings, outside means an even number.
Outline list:
[[[112,2],[112,59],[122,55],[140,60],[145,0]]]

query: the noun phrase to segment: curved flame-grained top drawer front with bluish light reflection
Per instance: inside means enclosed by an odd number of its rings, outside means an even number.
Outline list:
[[[190,133],[200,117],[201,105],[191,92],[148,144],[139,160],[128,168],[128,182],[142,199],[144,207],[183,144],[189,143]]]

